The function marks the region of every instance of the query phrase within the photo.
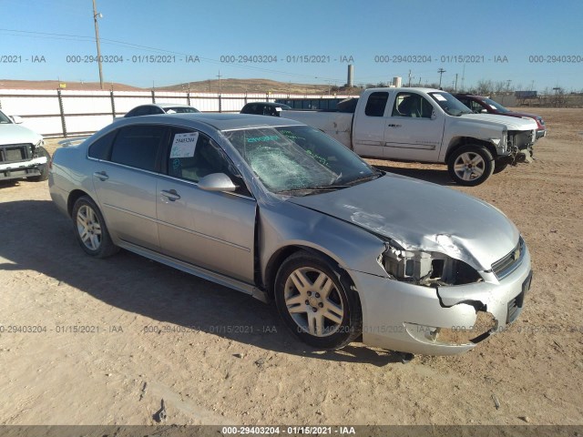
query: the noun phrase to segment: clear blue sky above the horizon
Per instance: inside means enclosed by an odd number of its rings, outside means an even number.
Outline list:
[[[112,61],[103,65],[107,82],[166,86],[220,71],[222,78],[343,85],[343,61],[352,56],[356,84],[393,76],[406,83],[411,70],[412,82],[423,85],[438,82],[444,68],[447,85],[457,74],[458,86],[463,78],[465,86],[490,79],[520,89],[583,89],[578,0],[97,0],[97,11],[101,53]],[[73,62],[96,54],[91,0],[0,0],[0,79],[97,81],[96,63]],[[169,62],[148,62],[149,55]],[[325,62],[299,62],[304,55]],[[195,56],[199,62],[186,62]],[[221,56],[277,62],[221,63]],[[407,62],[411,56],[421,62]]]

